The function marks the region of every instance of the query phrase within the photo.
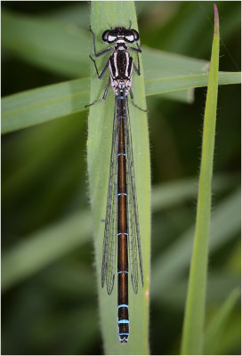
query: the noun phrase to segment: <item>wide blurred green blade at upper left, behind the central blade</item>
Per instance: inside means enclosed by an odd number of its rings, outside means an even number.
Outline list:
[[[2,34],[3,48],[22,60],[66,77],[86,76],[88,37],[73,23],[4,11]]]

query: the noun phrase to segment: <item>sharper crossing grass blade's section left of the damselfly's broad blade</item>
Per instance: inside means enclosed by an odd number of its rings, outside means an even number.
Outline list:
[[[89,101],[89,82],[87,78],[76,79],[5,97],[2,101],[2,134],[85,110]]]

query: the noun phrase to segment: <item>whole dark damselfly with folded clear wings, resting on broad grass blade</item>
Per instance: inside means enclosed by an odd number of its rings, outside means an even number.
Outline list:
[[[127,95],[129,93],[133,102],[133,92],[131,88],[133,69],[138,76],[141,75],[139,61],[141,44],[138,44],[140,38],[138,32],[131,28],[131,25],[129,28],[110,28],[103,32],[101,38],[103,42],[113,45],[97,53],[95,35],[92,28],[90,28],[90,30],[93,34],[95,57],[100,57],[112,51],[109,60],[100,74],[96,62],[92,56],[90,56],[94,63],[97,76],[100,79],[104,76],[108,68],[110,75],[101,100],[94,101],[92,104],[86,106],[104,101],[107,97],[109,86],[112,86],[115,93],[115,113],[102,250],[101,286],[103,287],[106,283],[107,292],[110,295],[114,287],[115,274],[117,271],[118,334],[121,343],[127,343],[129,336],[128,273],[130,270],[133,291],[137,294],[139,279],[138,264],[140,265],[141,283],[143,285],[141,237],[135,192],[131,125],[127,101]],[[136,44],[137,48],[129,45],[133,43]],[[129,50],[137,53],[137,67],[128,52]],[[141,109],[134,102],[133,105]]]

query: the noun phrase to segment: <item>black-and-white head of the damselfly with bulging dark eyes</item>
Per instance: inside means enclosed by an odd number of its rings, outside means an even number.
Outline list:
[[[106,29],[106,31],[103,32],[101,38],[103,42],[107,42],[108,44],[111,44],[117,41],[117,39],[121,38],[124,39],[124,41],[133,44],[133,42],[139,40],[140,36],[133,28],[113,28]]]

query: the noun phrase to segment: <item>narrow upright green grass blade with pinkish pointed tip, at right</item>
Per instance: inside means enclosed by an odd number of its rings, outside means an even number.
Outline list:
[[[198,208],[194,247],[190,264],[190,282],[186,302],[181,354],[203,352],[203,328],[206,308],[208,238],[211,219],[211,195],[214,162],[219,69],[219,17],[214,5],[214,41],[206,95],[202,159],[198,187]]]

